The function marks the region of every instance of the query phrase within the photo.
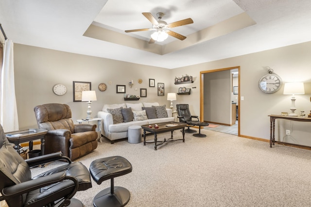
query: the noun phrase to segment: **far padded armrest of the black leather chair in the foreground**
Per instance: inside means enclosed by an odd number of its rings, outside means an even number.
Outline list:
[[[38,156],[35,158],[25,159],[29,167],[45,164],[55,160],[65,159],[68,163],[71,163],[71,159],[63,156],[61,152],[55,152],[47,155]]]

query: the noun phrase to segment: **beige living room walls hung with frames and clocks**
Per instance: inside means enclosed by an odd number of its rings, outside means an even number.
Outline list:
[[[134,80],[135,84],[132,89],[126,86],[126,93],[139,95],[139,88],[147,88],[147,97],[140,98],[139,101],[157,101],[169,106],[170,102],[166,100],[166,96],[156,96],[156,87],[150,88],[148,79],[155,79],[155,83],[165,83],[165,94],[177,93],[178,88],[183,86],[191,88],[191,95],[177,96],[177,100],[173,102],[174,108],[176,103],[188,103],[191,113],[200,115],[200,71],[233,66],[241,66],[239,86],[240,96],[244,96],[244,100],[240,102],[239,117],[242,136],[269,139],[268,114],[290,112],[290,96],[283,95],[283,86],[275,94],[264,94],[259,90],[258,81],[267,74],[267,67],[274,69],[283,82],[304,81],[306,94],[296,96],[296,108],[298,112],[309,113],[311,110],[311,42],[172,70],[18,44],[15,44],[14,51],[20,129],[36,127],[33,109],[36,105],[44,103],[69,104],[73,120],[84,117],[86,103],[72,101],[72,81],[92,82],[92,90],[96,91],[98,98],[92,103],[94,116],[105,103],[124,102],[123,95],[116,94],[116,84],[127,85],[129,80]],[[186,74],[193,77],[193,83],[173,83],[175,77]],[[139,78],[143,80],[142,84],[137,83]],[[109,80],[112,80],[113,84],[108,85],[105,92],[100,92],[98,84],[107,84]],[[53,94],[52,87],[56,83],[67,86],[66,95]],[[135,88],[138,88],[137,92]],[[283,139],[285,129],[292,129],[293,139],[289,139],[289,142],[311,146],[310,123],[277,120],[276,127],[277,140]]]

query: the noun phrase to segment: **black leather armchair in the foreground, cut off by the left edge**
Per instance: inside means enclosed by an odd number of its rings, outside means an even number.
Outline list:
[[[55,160],[64,164],[32,178],[30,167]],[[0,125],[0,201],[9,207],[83,206],[72,198],[76,191],[92,187],[90,174],[81,162],[72,162],[61,152],[24,160],[9,143]]]

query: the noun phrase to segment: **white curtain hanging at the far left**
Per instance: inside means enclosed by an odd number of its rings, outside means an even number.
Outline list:
[[[13,42],[9,39],[5,41],[3,53],[0,116],[0,122],[4,132],[19,129],[14,84]]]

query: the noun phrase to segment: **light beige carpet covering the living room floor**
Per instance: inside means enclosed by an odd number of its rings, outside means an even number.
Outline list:
[[[186,142],[110,144],[106,139],[91,154],[78,159],[89,167],[92,160],[123,156],[133,172],[115,178],[115,186],[131,192],[128,207],[310,207],[311,152],[309,150],[241,138],[201,129],[206,138],[186,134]],[[176,138],[181,132],[174,131]],[[158,135],[169,138],[170,132]],[[153,140],[153,136],[148,136]],[[33,175],[45,168],[32,169]],[[92,207],[97,192],[110,180],[77,192],[75,197]]]

